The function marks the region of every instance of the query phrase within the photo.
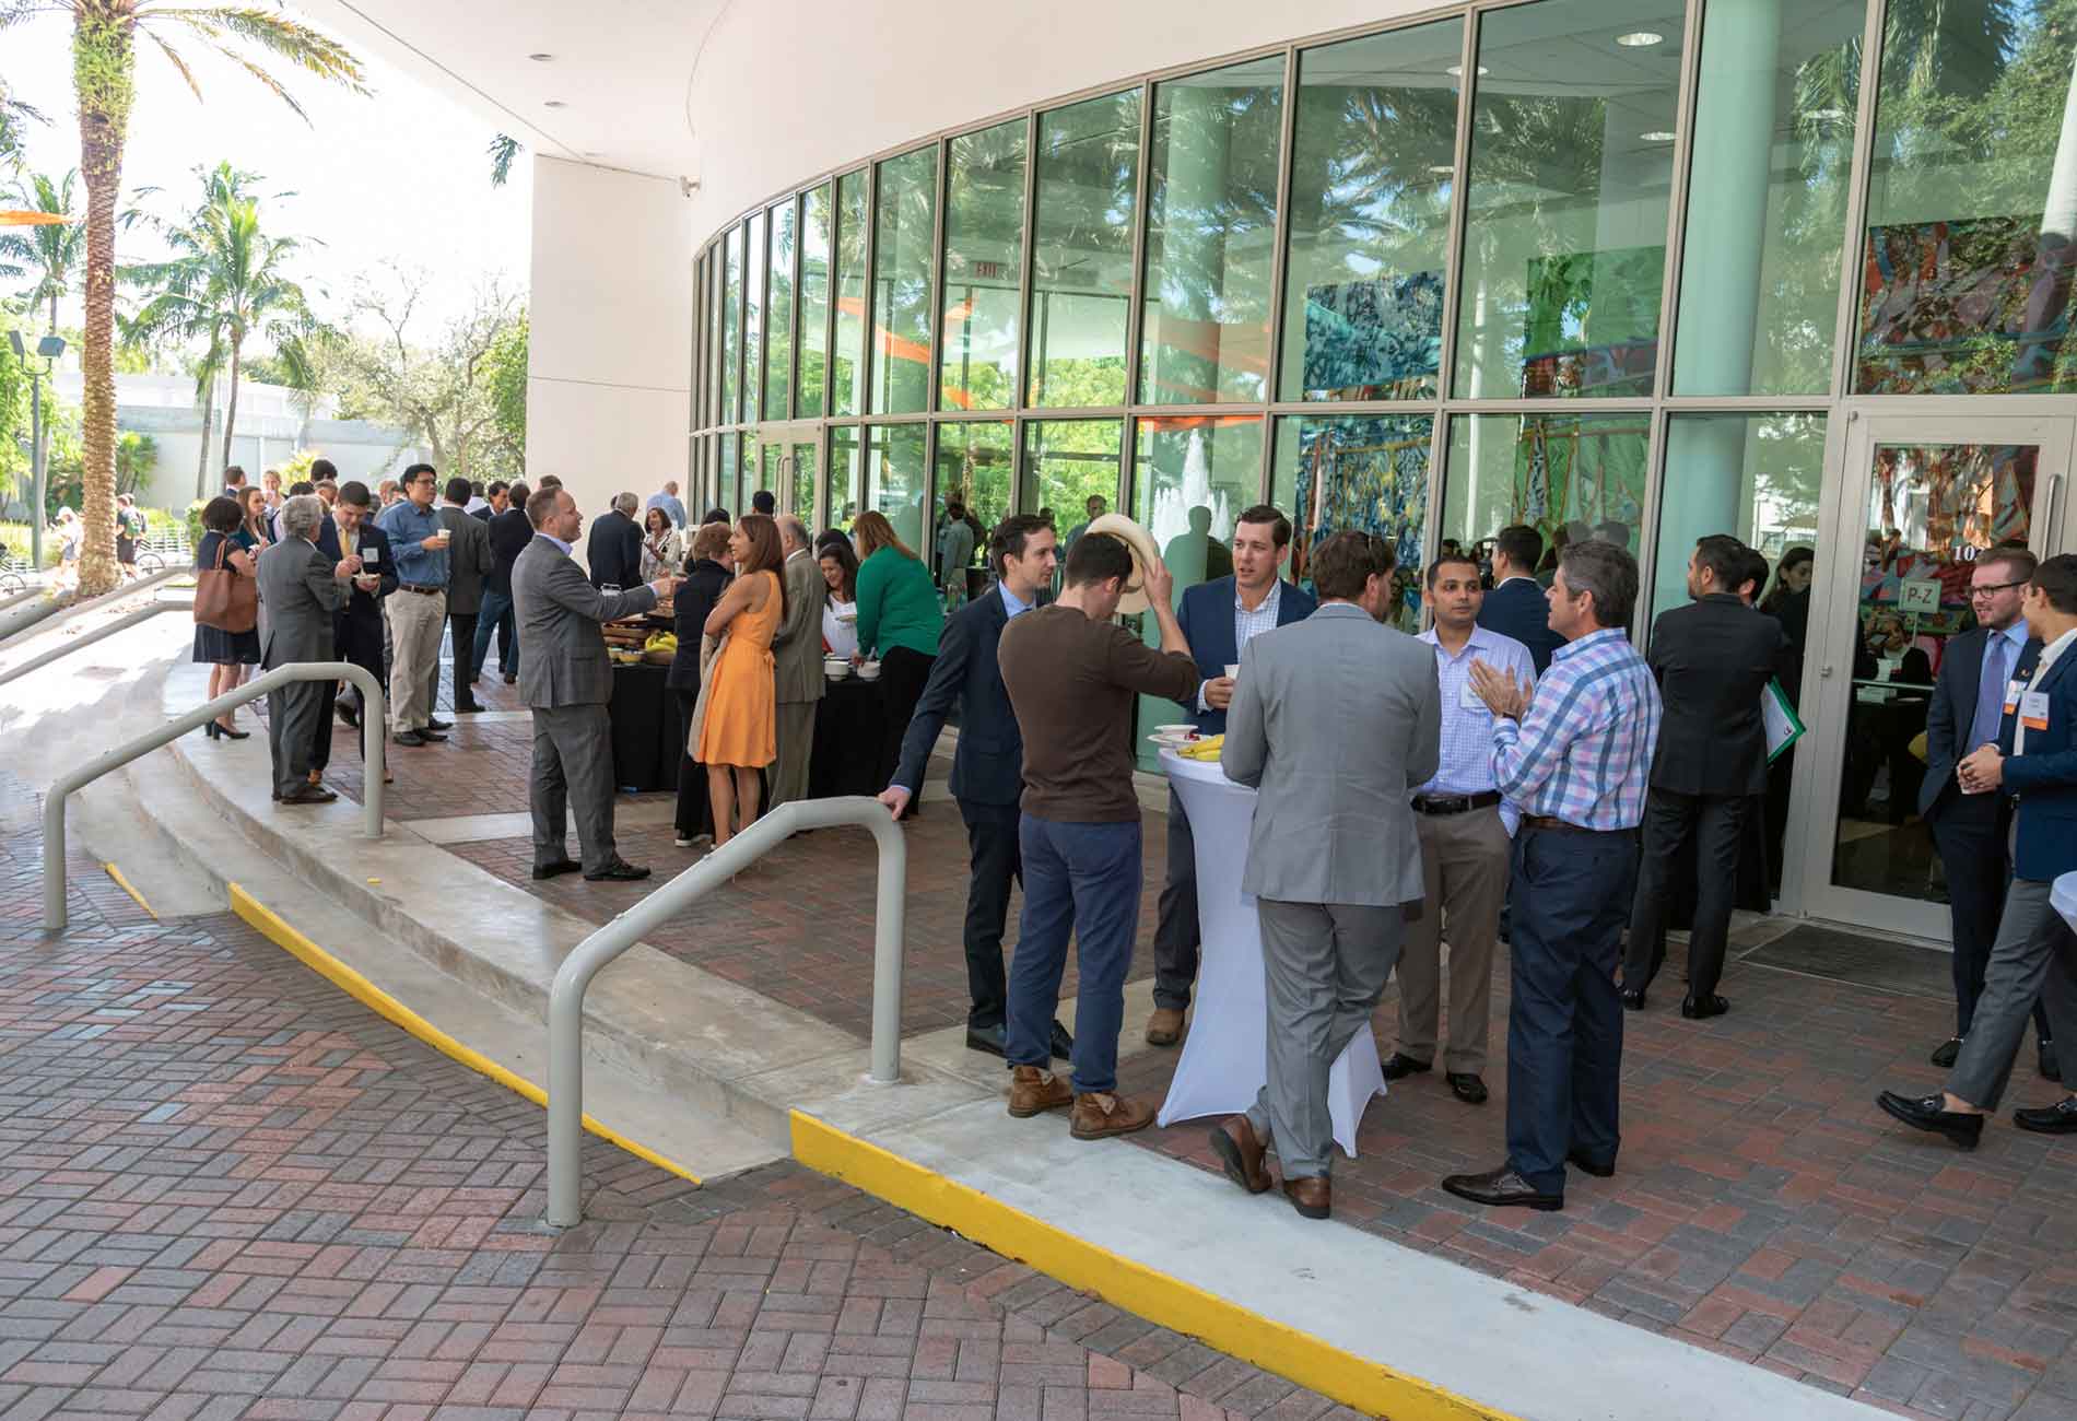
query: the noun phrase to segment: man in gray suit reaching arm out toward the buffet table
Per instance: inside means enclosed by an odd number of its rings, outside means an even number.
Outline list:
[[[627,592],[600,592],[571,559],[584,530],[577,501],[561,488],[542,488],[525,503],[534,542],[513,563],[513,613],[525,661],[519,694],[534,710],[534,775],[528,808],[534,810],[534,877],[552,879],[577,868],[565,848],[567,804],[577,802],[577,837],[584,839],[584,877],[592,883],[646,879],[613,843],[613,663],[598,623],[631,617],[669,596],[677,578],[658,578]]]

